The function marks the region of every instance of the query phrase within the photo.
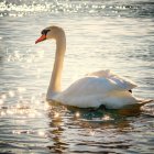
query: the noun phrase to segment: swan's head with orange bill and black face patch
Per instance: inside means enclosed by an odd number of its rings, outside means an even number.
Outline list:
[[[48,38],[57,40],[58,37],[62,37],[62,35],[65,35],[63,29],[58,28],[58,26],[48,26],[48,28],[42,30],[41,34],[42,34],[41,37],[38,37],[35,41],[35,44],[38,42],[48,40]]]

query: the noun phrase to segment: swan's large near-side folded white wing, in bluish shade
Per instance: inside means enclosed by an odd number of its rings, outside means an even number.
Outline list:
[[[80,108],[99,107],[103,98],[112,91],[121,90],[114,81],[107,78],[85,77],[56,95],[54,100]]]

